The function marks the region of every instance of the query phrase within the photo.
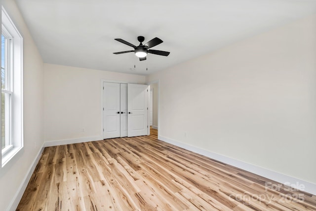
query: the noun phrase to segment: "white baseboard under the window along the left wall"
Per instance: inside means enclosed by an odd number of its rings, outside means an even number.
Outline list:
[[[34,161],[32,162],[32,165],[30,166],[27,174],[24,176],[23,181],[20,184],[17,192],[15,193],[12,201],[10,202],[7,211],[15,211],[16,208],[18,207],[18,205],[22,199],[22,196],[24,194],[24,191],[25,191],[25,189],[26,189],[26,187],[31,179],[31,176],[32,176],[32,174],[33,174],[33,172],[34,172],[34,170],[35,170],[35,168],[40,160],[40,156],[41,156],[41,153],[43,152],[43,150],[44,150],[44,143],[42,144],[37,156],[35,157]]]

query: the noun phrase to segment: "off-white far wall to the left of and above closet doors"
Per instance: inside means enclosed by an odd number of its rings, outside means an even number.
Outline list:
[[[145,83],[145,76],[44,64],[45,141],[101,136],[101,79]],[[82,129],[84,128],[84,132]],[[56,143],[56,142],[55,142]]]

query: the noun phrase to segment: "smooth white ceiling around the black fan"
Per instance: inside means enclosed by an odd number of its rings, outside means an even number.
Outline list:
[[[316,0],[16,0],[45,63],[150,74],[316,13]],[[159,37],[140,62],[114,38]],[[136,70],[134,69],[136,64]],[[148,70],[146,71],[146,67]]]

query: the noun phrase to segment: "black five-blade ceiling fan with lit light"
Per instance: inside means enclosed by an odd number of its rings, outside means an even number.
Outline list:
[[[143,41],[145,40],[145,37],[143,36],[138,36],[137,37],[138,41],[140,42],[140,44],[138,46],[136,45],[133,45],[132,43],[129,43],[123,39],[120,39],[120,38],[116,38],[115,40],[125,44],[125,45],[129,45],[131,47],[134,48],[134,50],[130,50],[130,51],[121,51],[121,52],[116,52],[114,54],[121,54],[121,53],[129,53],[129,52],[135,52],[135,55],[137,57],[139,57],[139,61],[143,61],[143,60],[146,60],[146,56],[148,53],[151,53],[151,54],[157,54],[157,55],[160,55],[160,56],[168,56],[170,54],[170,52],[167,52],[167,51],[158,51],[158,50],[151,50],[150,48],[162,43],[163,41],[161,39],[159,39],[158,37],[155,37],[154,39],[146,42],[144,45],[143,45]]]

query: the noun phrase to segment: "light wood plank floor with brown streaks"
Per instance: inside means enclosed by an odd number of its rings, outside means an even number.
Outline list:
[[[17,210],[316,210],[315,195],[266,188],[277,183],[151,133],[46,147]]]

